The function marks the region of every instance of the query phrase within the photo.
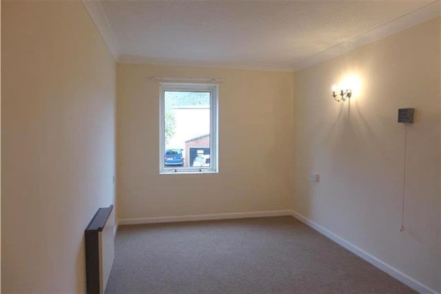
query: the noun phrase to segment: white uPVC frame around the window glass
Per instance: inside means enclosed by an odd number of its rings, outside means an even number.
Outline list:
[[[217,173],[218,169],[218,100],[219,87],[217,84],[199,83],[159,83],[159,173],[161,175],[183,173]],[[165,91],[183,92],[210,92],[210,167],[166,167],[164,166],[164,115],[165,115]],[[185,154],[189,156],[189,154]]]

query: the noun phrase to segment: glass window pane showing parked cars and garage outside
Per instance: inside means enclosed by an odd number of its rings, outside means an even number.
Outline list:
[[[210,166],[210,92],[164,91],[164,166]]]

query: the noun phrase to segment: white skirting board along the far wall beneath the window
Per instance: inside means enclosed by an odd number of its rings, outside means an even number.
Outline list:
[[[139,224],[139,223],[171,223],[171,222],[186,222],[193,220],[226,220],[226,219],[242,219],[247,217],[262,217],[262,216],[292,216],[292,210],[232,212],[232,213],[198,214],[198,215],[190,215],[190,216],[159,216],[159,217],[146,217],[146,218],[138,218],[138,219],[120,219],[118,220],[118,225]]]

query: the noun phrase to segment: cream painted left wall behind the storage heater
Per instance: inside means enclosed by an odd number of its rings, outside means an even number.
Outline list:
[[[115,201],[116,63],[80,1],[2,1],[2,293],[84,293]]]

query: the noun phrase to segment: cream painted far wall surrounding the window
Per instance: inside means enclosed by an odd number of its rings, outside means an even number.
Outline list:
[[[118,64],[119,218],[292,208],[292,73]],[[159,86],[219,84],[218,174],[159,175]]]

